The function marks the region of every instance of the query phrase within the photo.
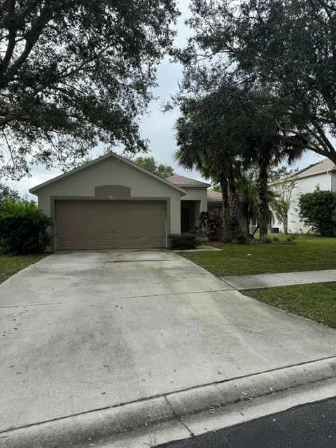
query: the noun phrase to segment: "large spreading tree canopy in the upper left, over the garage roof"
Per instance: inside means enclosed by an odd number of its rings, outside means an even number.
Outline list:
[[[175,0],[3,0],[0,174],[69,168],[102,141],[146,150],[137,116],[172,44]]]

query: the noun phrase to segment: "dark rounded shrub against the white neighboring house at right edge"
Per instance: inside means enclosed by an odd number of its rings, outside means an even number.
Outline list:
[[[299,216],[304,225],[323,237],[335,235],[336,193],[320,190],[305,193],[299,198]]]

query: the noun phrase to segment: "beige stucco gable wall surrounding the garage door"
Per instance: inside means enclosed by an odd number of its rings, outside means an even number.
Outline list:
[[[186,195],[186,192],[119,155],[104,155],[29,191],[37,195],[38,206],[45,214],[52,216],[55,200],[69,197],[94,199],[99,186],[128,187],[131,200],[153,198],[167,201],[167,235],[181,232],[181,196]],[[99,199],[115,200],[114,193],[113,188],[111,191],[103,188],[99,192]]]

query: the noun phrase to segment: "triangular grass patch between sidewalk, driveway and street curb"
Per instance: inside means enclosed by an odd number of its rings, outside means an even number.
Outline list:
[[[246,290],[244,295],[336,328],[336,282]]]

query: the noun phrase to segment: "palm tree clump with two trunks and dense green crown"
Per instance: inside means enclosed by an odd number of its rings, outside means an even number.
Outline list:
[[[286,109],[265,104],[265,90],[241,87],[230,75],[218,80],[216,74],[202,67],[186,72],[186,92],[176,97],[181,116],[176,123],[175,157],[184,167],[199,169],[220,184],[226,241],[240,231],[237,207],[232,207],[237,202],[235,167],[258,165],[258,225],[260,235],[267,235],[269,167],[283,160],[294,162],[302,148],[295,137],[283,139],[276,123],[284,120]],[[211,92],[204,92],[210,87]]]

